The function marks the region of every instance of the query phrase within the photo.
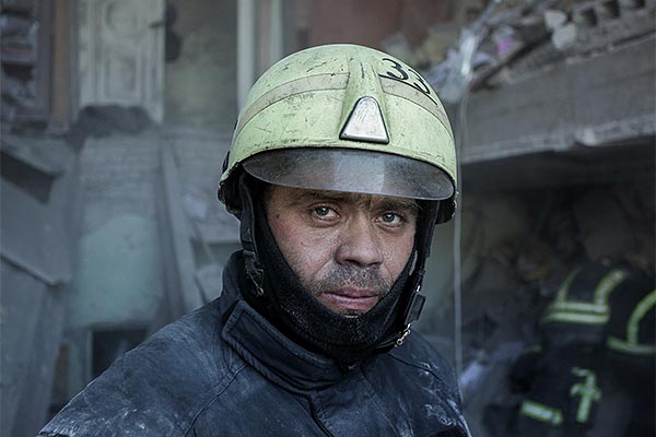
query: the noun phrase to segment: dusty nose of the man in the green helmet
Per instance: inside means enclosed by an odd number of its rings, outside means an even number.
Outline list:
[[[359,212],[344,224],[337,262],[370,267],[383,262],[383,250],[375,224],[368,214]]]

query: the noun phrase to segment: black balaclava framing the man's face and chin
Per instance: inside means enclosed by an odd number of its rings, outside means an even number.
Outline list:
[[[255,284],[245,291],[246,300],[293,341],[335,359],[341,366],[362,361],[376,350],[388,350],[405,328],[406,310],[410,306],[408,298],[423,276],[423,262],[419,263],[420,272],[417,272],[418,262],[414,262],[419,259],[417,247],[422,238],[415,236],[412,255],[403,271],[372,309],[356,317],[341,316],[325,307],[301,284],[269,227],[262,184],[249,177],[244,179],[242,240],[247,258],[245,274]],[[425,238],[425,233],[420,232],[421,223],[418,218],[417,233]],[[432,228],[429,234],[432,235]],[[415,272],[411,275],[413,267]],[[417,312],[420,310],[417,309]],[[390,338],[393,341],[388,344],[386,340]]]

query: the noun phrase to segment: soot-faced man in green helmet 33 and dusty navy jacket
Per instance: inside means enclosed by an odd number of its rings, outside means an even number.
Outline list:
[[[281,60],[250,91],[221,176],[243,246],[221,297],[40,435],[468,435],[449,366],[410,333],[455,180],[446,114],[412,68],[352,45]]]

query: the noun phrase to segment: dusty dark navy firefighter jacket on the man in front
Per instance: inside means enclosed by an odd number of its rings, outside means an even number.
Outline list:
[[[238,292],[163,328],[91,382],[39,436],[467,436],[448,364],[417,332],[342,371]]]

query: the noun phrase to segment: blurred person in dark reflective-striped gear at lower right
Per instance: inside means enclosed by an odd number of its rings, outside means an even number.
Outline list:
[[[520,402],[503,435],[653,435],[653,286],[609,258],[573,269],[540,320],[541,344],[511,369]]]

